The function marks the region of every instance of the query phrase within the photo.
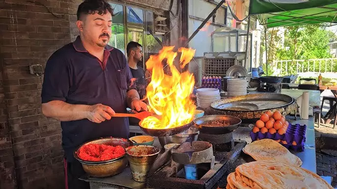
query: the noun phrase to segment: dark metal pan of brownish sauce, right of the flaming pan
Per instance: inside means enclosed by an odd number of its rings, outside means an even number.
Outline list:
[[[228,122],[229,125],[214,125],[213,121],[225,121]],[[203,116],[200,118],[196,118],[193,121],[196,127],[199,129],[200,133],[210,134],[210,135],[222,135],[227,134],[235,129],[237,129],[241,124],[241,119],[233,116],[225,116],[225,115],[211,115],[211,116]]]

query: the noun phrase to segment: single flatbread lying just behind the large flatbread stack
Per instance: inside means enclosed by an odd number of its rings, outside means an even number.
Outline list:
[[[243,152],[252,156],[254,160],[270,160],[290,165],[301,166],[302,161],[279,142],[271,139],[262,139],[246,145]]]

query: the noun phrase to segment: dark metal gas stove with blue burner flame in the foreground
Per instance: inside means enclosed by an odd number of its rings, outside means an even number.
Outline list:
[[[223,136],[224,135],[217,137],[220,138]],[[207,136],[204,135],[204,137]],[[232,134],[231,136],[229,134],[227,135],[226,139],[229,138],[232,139]],[[212,142],[213,141],[207,143]],[[218,144],[217,145],[219,147],[215,148],[212,144],[212,147],[208,149],[212,150],[212,154],[203,153],[197,156],[197,153],[195,152],[195,156],[193,156],[193,153],[187,153],[189,154],[188,158],[179,158],[179,160],[174,158],[176,154],[174,155],[172,151],[173,161],[163,165],[154,174],[149,175],[146,183],[147,188],[217,188],[217,183],[220,181],[220,179],[224,178],[225,174],[229,173],[229,169],[232,167],[233,163],[239,158],[242,149],[246,145],[246,142],[233,142],[233,140],[231,140],[230,142],[223,142],[224,143],[219,144],[227,144],[225,148],[222,148],[223,146]],[[229,149],[230,146],[232,146],[231,149]],[[174,160],[179,163],[174,162]]]

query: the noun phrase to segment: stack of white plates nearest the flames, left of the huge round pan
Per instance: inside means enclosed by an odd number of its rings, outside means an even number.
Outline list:
[[[209,108],[210,105],[220,100],[219,89],[201,88],[197,89],[197,105],[201,108]]]

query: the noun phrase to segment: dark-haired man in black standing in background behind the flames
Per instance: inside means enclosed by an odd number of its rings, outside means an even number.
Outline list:
[[[143,98],[146,95],[146,81],[145,81],[145,71],[137,65],[138,62],[141,62],[143,58],[143,52],[141,45],[137,42],[131,41],[127,47],[126,52],[128,53],[128,63],[133,77],[137,80],[136,88],[140,95],[140,98]]]

